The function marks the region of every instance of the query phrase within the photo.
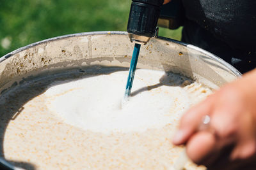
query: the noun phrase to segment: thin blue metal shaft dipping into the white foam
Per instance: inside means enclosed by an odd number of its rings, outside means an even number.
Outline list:
[[[127,84],[126,84],[126,89],[125,89],[125,95],[124,95],[124,99],[127,99],[127,97],[130,96],[131,94],[131,90],[132,90],[132,82],[134,79],[134,74],[135,74],[135,70],[136,70],[136,66],[137,66],[137,62],[138,62],[138,57],[139,57],[139,53],[140,53],[140,44],[135,44],[134,45],[134,50],[132,53],[132,60],[131,60],[131,65],[130,65],[130,70],[129,70],[129,76],[127,78]]]

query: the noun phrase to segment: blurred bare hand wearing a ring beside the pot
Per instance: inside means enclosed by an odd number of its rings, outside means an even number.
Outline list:
[[[205,115],[209,128],[198,131]],[[188,157],[209,169],[256,166],[256,69],[187,111],[173,144],[186,144]]]

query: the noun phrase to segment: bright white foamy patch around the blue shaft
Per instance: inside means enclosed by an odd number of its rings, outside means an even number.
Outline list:
[[[132,87],[135,95],[122,104],[127,74],[118,71],[58,82],[45,92],[47,107],[67,124],[104,133],[161,128],[178,120],[189,108],[186,90],[159,85],[164,72],[146,69],[136,71]],[[154,85],[156,88],[148,88]]]

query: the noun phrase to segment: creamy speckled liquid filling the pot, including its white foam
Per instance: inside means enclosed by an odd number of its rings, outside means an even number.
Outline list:
[[[179,118],[211,90],[199,83],[190,84],[191,80],[177,74],[138,69],[133,96],[121,109],[127,74],[116,71],[86,74],[86,78],[72,81],[54,80],[45,92],[26,102],[19,99],[19,90],[2,96],[0,105],[6,106],[0,107],[4,113],[2,129],[10,120],[12,104],[24,102],[4,131],[4,157],[18,166],[28,162],[35,169],[172,166],[183,150],[170,142]],[[29,96],[33,90],[27,92]],[[26,98],[25,94],[22,96]],[[186,168],[204,169],[191,162]]]

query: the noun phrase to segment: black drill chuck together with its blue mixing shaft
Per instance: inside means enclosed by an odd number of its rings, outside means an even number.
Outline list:
[[[125,87],[125,101],[131,94],[140,46],[146,45],[150,38],[156,36],[157,20],[163,3],[164,0],[132,0],[127,32],[135,46]]]

